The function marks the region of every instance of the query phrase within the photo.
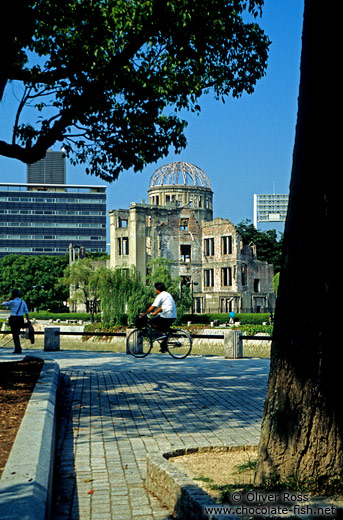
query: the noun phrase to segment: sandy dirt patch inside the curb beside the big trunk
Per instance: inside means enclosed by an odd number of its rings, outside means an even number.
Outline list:
[[[222,486],[243,486],[253,483],[257,447],[233,447],[226,451],[197,451],[171,457],[175,464],[210,496],[220,497]]]

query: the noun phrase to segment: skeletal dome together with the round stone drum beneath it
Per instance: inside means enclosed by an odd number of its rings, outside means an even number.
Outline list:
[[[210,179],[198,166],[172,162],[158,168],[150,179],[149,203],[166,207],[192,208],[199,220],[213,219]]]

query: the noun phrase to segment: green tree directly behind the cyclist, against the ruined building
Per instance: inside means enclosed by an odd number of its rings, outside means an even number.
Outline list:
[[[183,316],[192,307],[192,294],[187,285],[181,283],[181,277],[172,278],[172,261],[167,258],[156,258],[149,262],[147,283],[153,287],[156,282],[164,283],[166,290],[173,296],[176,304],[177,319],[181,323]],[[153,295],[155,299],[156,294]],[[151,303],[151,301],[150,301]]]

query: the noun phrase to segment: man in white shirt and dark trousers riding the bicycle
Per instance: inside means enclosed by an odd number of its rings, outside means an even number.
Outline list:
[[[155,283],[155,292],[157,294],[155,300],[146,312],[139,316],[147,316],[151,313],[153,318],[150,319],[151,326],[158,332],[167,332],[176,319],[176,305],[174,298],[166,291],[162,282]],[[161,343],[161,352],[167,352],[165,340]]]

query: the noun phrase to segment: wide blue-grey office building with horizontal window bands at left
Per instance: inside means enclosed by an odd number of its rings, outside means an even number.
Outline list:
[[[0,183],[0,257],[106,252],[106,187]]]

